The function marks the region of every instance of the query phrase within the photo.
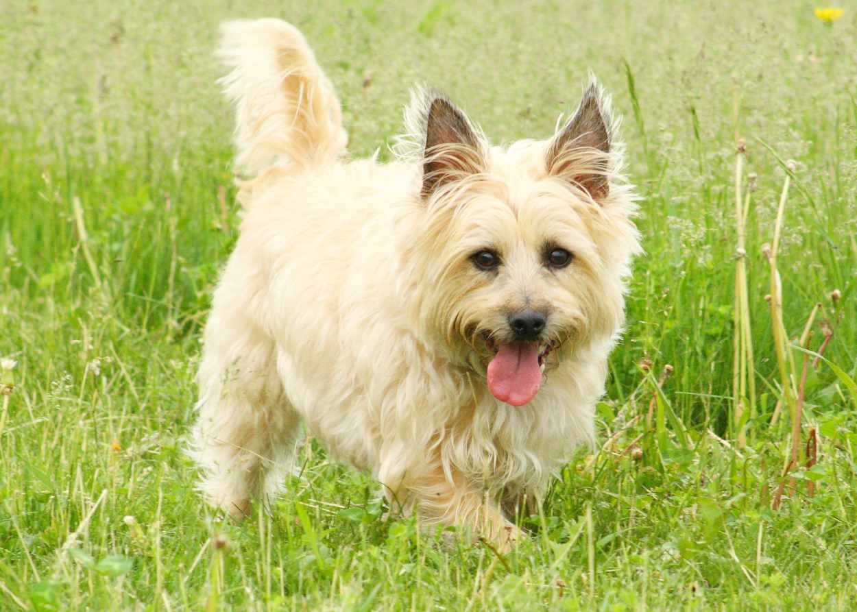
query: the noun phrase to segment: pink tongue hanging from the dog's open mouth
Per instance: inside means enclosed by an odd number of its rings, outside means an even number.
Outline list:
[[[536,397],[542,386],[542,369],[538,364],[538,345],[510,342],[488,363],[488,388],[501,402],[522,406]]]

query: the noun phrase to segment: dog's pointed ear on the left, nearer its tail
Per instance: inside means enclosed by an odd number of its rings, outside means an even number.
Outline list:
[[[482,142],[476,129],[464,112],[443,94],[415,92],[406,120],[411,129],[417,123],[417,134],[422,136],[423,198],[484,169]]]

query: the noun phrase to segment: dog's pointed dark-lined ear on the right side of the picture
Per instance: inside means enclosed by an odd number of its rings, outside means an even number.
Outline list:
[[[565,178],[594,201],[609,193],[611,118],[609,102],[595,81],[586,88],[578,110],[548,144],[548,175]]]

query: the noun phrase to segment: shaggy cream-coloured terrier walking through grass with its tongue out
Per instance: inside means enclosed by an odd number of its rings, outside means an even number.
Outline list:
[[[306,429],[391,509],[511,549],[594,444],[640,250],[608,96],[590,75],[553,135],[499,147],[417,88],[395,160],[349,160],[303,34],[222,31],[243,220],[197,376],[207,501],[240,519],[277,494]]]

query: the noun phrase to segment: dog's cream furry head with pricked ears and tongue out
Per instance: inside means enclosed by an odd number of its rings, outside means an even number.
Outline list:
[[[497,399],[527,404],[546,369],[622,325],[639,247],[608,99],[593,82],[551,138],[510,147],[440,94],[415,94],[406,119],[423,169],[405,248],[419,315]]]

